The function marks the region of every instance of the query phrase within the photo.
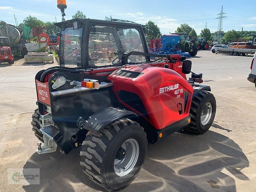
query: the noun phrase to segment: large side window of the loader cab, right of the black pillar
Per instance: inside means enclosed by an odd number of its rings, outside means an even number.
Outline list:
[[[88,39],[88,65],[121,65],[124,52],[144,52],[140,29],[91,26]],[[129,63],[145,62],[145,56],[130,55]]]

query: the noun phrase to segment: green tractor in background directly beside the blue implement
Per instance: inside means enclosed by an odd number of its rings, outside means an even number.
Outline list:
[[[187,33],[170,33],[170,34],[180,36],[180,42],[176,45],[176,48],[178,50],[181,50],[182,52],[188,52],[190,56],[196,56],[197,54],[196,44],[193,44],[189,40],[190,36],[188,36]]]

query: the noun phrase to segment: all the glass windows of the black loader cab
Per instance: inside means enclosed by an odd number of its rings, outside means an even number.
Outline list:
[[[85,29],[86,30],[86,29]],[[98,67],[122,65],[125,52],[145,52],[140,28],[90,25],[86,47],[83,47],[83,27],[63,28],[60,34],[60,65],[65,67]],[[84,54],[84,55],[83,55]],[[88,62],[82,63],[82,56]],[[145,56],[130,55],[128,63],[145,62]]]

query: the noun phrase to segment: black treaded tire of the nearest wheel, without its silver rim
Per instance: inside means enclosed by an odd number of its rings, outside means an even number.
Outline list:
[[[133,170],[120,177],[114,171],[114,160],[120,146],[134,138],[140,145],[140,153]],[[97,135],[88,132],[80,151],[84,173],[94,183],[108,191],[125,188],[140,172],[147,152],[147,138],[143,128],[136,122],[122,118],[108,125]]]

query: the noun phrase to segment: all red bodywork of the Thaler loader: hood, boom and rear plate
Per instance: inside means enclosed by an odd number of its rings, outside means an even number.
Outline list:
[[[180,55],[170,55],[176,63],[155,62],[150,64],[137,64],[126,66],[111,66],[90,69],[84,74],[105,76],[114,84],[112,88],[119,102],[126,108],[136,112],[148,121],[157,130],[163,129],[181,119],[188,117],[191,105],[193,87],[188,83],[186,74],[182,73]],[[165,68],[168,65],[168,68]],[[122,76],[120,71],[140,73],[137,77]],[[48,80],[52,73],[45,77],[45,83],[36,80],[38,100],[50,104]],[[76,80],[76,79],[74,79]],[[132,108],[125,103],[118,92],[125,91],[134,93],[141,99],[147,115]],[[185,107],[185,92],[187,103]],[[133,98],[131,98],[133,99]],[[179,112],[180,111],[180,112]],[[181,112],[182,111],[182,112]]]

